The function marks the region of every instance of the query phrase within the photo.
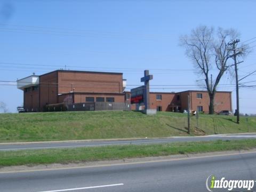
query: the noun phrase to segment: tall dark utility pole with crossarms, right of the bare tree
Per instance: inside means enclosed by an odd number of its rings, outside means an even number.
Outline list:
[[[232,45],[231,50],[233,50],[233,55],[231,57],[234,57],[235,62],[235,73],[236,73],[236,123],[239,124],[239,86],[238,86],[238,73],[237,73],[237,62],[236,62],[236,56],[238,54],[241,54],[241,52],[236,52],[236,45],[239,43],[239,39],[234,40],[233,42],[229,43],[228,45]]]

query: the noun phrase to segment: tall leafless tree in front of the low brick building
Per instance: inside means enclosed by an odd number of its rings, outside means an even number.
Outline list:
[[[221,77],[229,69],[228,63],[232,57],[232,51],[228,49],[231,39],[238,37],[234,29],[214,29],[207,26],[199,26],[191,31],[188,36],[180,37],[180,44],[185,47],[186,55],[194,63],[197,74],[204,76],[205,89],[210,98],[209,114],[214,114],[214,97]],[[217,70],[217,76],[211,78],[211,70]]]

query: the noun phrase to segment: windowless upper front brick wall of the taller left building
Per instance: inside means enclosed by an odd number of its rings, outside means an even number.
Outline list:
[[[86,73],[81,71],[58,72],[59,93],[95,92],[122,93],[123,75],[111,73]]]

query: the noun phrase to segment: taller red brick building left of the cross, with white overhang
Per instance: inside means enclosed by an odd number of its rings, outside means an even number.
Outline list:
[[[43,111],[61,102],[124,102],[125,79],[122,73],[55,70],[19,79],[17,87],[25,111]]]

